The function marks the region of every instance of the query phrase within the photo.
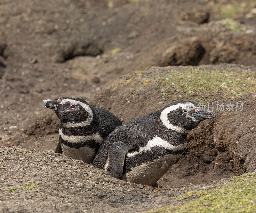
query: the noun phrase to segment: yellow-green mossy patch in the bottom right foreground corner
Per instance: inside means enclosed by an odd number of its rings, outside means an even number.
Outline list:
[[[234,177],[227,185],[212,191],[191,191],[178,199],[199,198],[183,205],[167,206],[150,212],[255,212],[256,174]]]

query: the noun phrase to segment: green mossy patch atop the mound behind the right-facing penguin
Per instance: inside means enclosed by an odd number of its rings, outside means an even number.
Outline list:
[[[184,72],[173,71],[166,77],[155,78],[159,93],[164,100],[173,96],[189,98],[197,102],[204,99],[214,101],[214,97],[234,100],[255,94],[256,76],[250,71],[236,72],[228,70],[188,69]]]

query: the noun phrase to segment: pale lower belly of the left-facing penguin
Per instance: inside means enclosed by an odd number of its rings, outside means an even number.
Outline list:
[[[91,164],[96,151],[90,147],[70,148],[64,144],[61,144],[63,155],[71,157],[75,160],[82,160],[84,163]]]

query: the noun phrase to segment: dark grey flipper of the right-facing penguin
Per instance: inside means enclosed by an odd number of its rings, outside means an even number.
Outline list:
[[[124,169],[124,159],[126,153],[132,149],[122,141],[116,141],[108,150],[107,172],[114,178],[120,179]]]

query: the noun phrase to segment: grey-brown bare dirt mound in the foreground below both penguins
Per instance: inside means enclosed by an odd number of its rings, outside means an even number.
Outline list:
[[[131,184],[82,161],[28,148],[0,147],[0,160],[1,212],[142,212],[181,204],[175,198],[188,190],[216,187]]]

